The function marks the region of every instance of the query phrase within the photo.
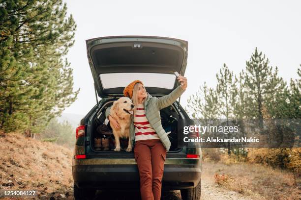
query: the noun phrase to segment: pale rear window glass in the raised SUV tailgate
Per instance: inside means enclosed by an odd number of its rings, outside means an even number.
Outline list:
[[[134,80],[141,80],[145,87],[173,89],[176,75],[157,73],[112,73],[101,74],[100,80],[104,89],[126,87]]]

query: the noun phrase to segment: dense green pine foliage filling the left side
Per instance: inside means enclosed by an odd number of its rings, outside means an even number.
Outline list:
[[[0,129],[38,132],[76,99],[66,14],[62,0],[0,0]]]

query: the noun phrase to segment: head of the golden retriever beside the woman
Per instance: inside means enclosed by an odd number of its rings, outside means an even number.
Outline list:
[[[114,101],[112,109],[120,118],[124,118],[134,113],[134,104],[128,97],[121,97],[119,100]]]

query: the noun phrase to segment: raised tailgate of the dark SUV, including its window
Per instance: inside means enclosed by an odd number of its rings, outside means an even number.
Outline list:
[[[86,41],[90,70],[99,97],[123,95],[128,83],[139,79],[152,96],[167,95],[184,75],[188,42],[152,36],[114,36]],[[135,78],[135,79],[134,79]]]

